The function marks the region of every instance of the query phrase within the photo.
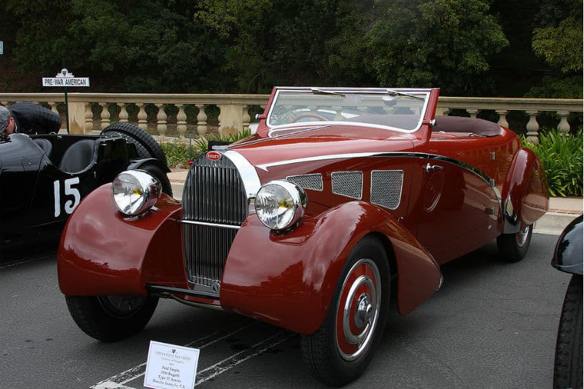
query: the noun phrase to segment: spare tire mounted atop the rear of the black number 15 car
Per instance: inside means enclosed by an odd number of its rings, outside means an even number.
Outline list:
[[[101,134],[123,137],[127,142],[136,145],[136,151],[138,151],[140,158],[155,158],[162,162],[164,166],[168,165],[166,154],[164,154],[160,144],[149,133],[142,131],[135,124],[126,122],[109,124],[101,131]]]

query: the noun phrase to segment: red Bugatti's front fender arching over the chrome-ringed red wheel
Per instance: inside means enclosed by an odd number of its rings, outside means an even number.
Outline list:
[[[294,332],[313,333],[325,318],[345,260],[371,232],[391,242],[398,309],[409,313],[439,287],[440,268],[393,216],[362,201],[338,205],[284,234],[249,217],[226,261],[221,305]]]

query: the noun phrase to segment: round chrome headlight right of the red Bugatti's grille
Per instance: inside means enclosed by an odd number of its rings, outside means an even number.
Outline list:
[[[306,193],[300,186],[290,181],[276,180],[259,188],[255,210],[266,227],[285,230],[302,219],[306,203]]]

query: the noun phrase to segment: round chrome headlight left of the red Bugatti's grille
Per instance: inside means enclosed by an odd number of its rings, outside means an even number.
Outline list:
[[[136,216],[149,210],[160,197],[158,179],[140,170],[122,172],[111,184],[113,203],[122,214]]]

